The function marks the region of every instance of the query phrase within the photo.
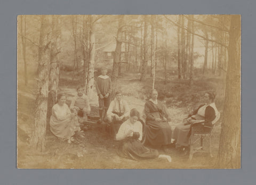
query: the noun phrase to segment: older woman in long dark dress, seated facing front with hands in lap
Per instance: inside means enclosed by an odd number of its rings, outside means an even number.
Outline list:
[[[170,116],[163,103],[157,100],[157,90],[151,90],[151,99],[145,104],[146,130],[145,144],[162,146],[164,152],[170,152],[168,145],[172,144],[172,129]]]

